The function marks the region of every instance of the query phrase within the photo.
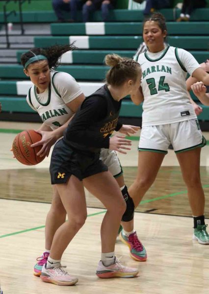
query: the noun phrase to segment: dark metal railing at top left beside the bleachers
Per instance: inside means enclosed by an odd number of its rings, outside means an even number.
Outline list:
[[[16,10],[12,10],[7,12],[6,10],[6,6],[9,2],[14,1],[15,3],[18,2],[18,6],[19,6],[19,17],[20,17],[20,27],[21,27],[21,34],[23,35],[25,30],[24,30],[24,26],[23,26],[23,11],[22,11],[22,5],[24,2],[28,2],[30,3],[30,0],[6,0],[5,4],[3,5],[3,19],[4,19],[4,25],[5,25],[5,36],[6,36],[6,46],[7,48],[10,47],[10,43],[9,43],[9,33],[8,33],[8,17],[11,14],[14,14],[15,16],[17,15],[17,11]]]

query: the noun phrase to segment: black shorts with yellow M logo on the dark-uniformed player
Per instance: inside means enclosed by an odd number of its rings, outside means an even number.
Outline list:
[[[72,149],[62,139],[53,148],[50,163],[52,184],[66,183],[72,174],[82,181],[90,175],[106,171],[108,168],[100,160],[100,153]]]

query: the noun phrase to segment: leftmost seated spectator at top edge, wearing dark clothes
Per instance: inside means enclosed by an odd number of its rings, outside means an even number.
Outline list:
[[[52,0],[52,7],[59,23],[74,23],[77,10],[82,8],[83,0]],[[63,12],[70,12],[71,18],[65,20]]]

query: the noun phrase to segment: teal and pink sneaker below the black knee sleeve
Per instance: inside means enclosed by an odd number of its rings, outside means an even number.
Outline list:
[[[129,235],[129,237],[124,234],[123,230],[120,233],[121,241],[129,246],[130,255],[136,261],[146,261],[147,252],[145,247],[141,244],[140,240],[137,237],[136,232]]]

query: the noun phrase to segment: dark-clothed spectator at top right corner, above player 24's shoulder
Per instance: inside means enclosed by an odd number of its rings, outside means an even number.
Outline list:
[[[180,17],[177,22],[188,22],[192,11],[196,8],[206,7],[206,0],[183,0],[183,6]]]

